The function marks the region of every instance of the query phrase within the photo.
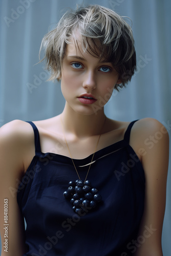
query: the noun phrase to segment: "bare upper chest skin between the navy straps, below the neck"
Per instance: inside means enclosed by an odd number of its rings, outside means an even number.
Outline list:
[[[102,148],[123,140],[123,131],[115,131],[86,138],[40,133],[41,152],[55,153],[73,159],[83,159]]]

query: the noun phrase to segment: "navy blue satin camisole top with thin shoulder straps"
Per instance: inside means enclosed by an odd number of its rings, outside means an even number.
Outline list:
[[[34,123],[35,156],[18,187],[17,202],[26,220],[24,256],[133,255],[144,208],[144,170],[129,144],[131,122],[124,139],[97,151],[88,180],[102,203],[79,216],[63,197],[68,183],[78,179],[72,160],[42,153]],[[74,159],[85,179],[92,155]]]

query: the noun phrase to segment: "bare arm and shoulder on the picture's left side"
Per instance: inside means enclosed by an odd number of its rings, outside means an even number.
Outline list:
[[[18,181],[24,174],[23,140],[19,127],[22,121],[12,121],[0,129],[0,202],[2,256],[22,256],[25,252],[24,218],[17,204]],[[4,200],[8,199],[8,223],[5,223]],[[8,207],[8,208],[7,208]],[[5,224],[5,225],[4,225]],[[8,224],[8,225],[7,225]],[[6,227],[6,230],[4,229]],[[8,239],[8,240],[5,240]],[[4,242],[8,242],[8,253]]]

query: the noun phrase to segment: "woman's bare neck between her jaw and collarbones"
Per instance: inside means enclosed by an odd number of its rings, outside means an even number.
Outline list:
[[[80,138],[102,133],[106,119],[103,109],[91,115],[83,115],[76,113],[67,105],[65,105],[61,118],[65,131]]]

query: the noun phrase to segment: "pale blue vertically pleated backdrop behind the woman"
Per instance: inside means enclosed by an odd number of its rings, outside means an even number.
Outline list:
[[[1,0],[0,126],[13,119],[46,119],[62,111],[60,83],[45,82],[47,72],[42,63],[35,63],[42,37],[68,8],[81,3],[111,8],[133,22],[137,72],[126,89],[113,94],[106,115],[123,121],[156,118],[171,137],[170,0]],[[169,165],[164,256],[171,251],[170,182]]]

